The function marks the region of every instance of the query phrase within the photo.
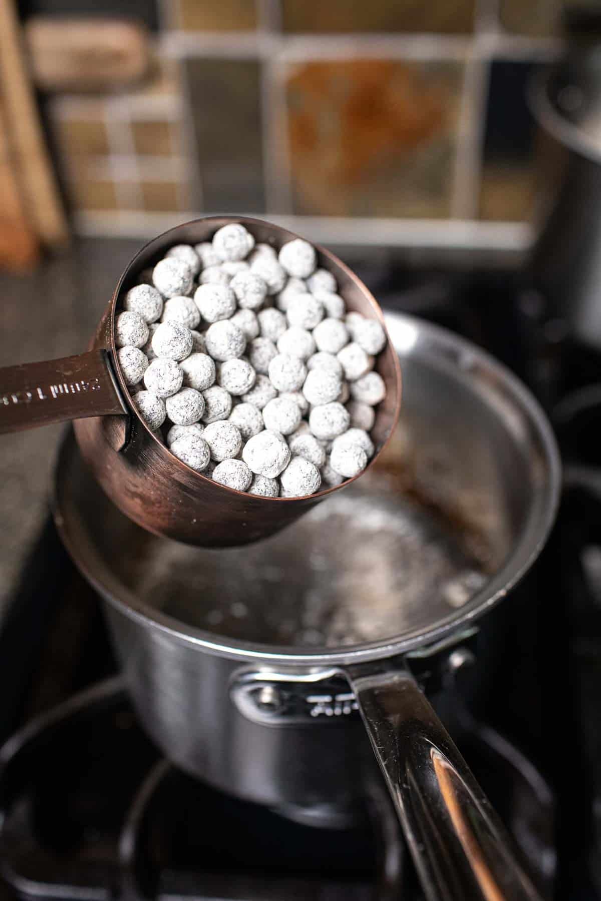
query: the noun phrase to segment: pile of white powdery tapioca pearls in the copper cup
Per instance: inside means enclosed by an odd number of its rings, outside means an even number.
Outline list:
[[[277,253],[225,225],[211,243],[172,247],[140,281],[116,317],[119,363],[179,460],[265,497],[311,495],[365,469],[386,334],[347,314],[311,244]]]

